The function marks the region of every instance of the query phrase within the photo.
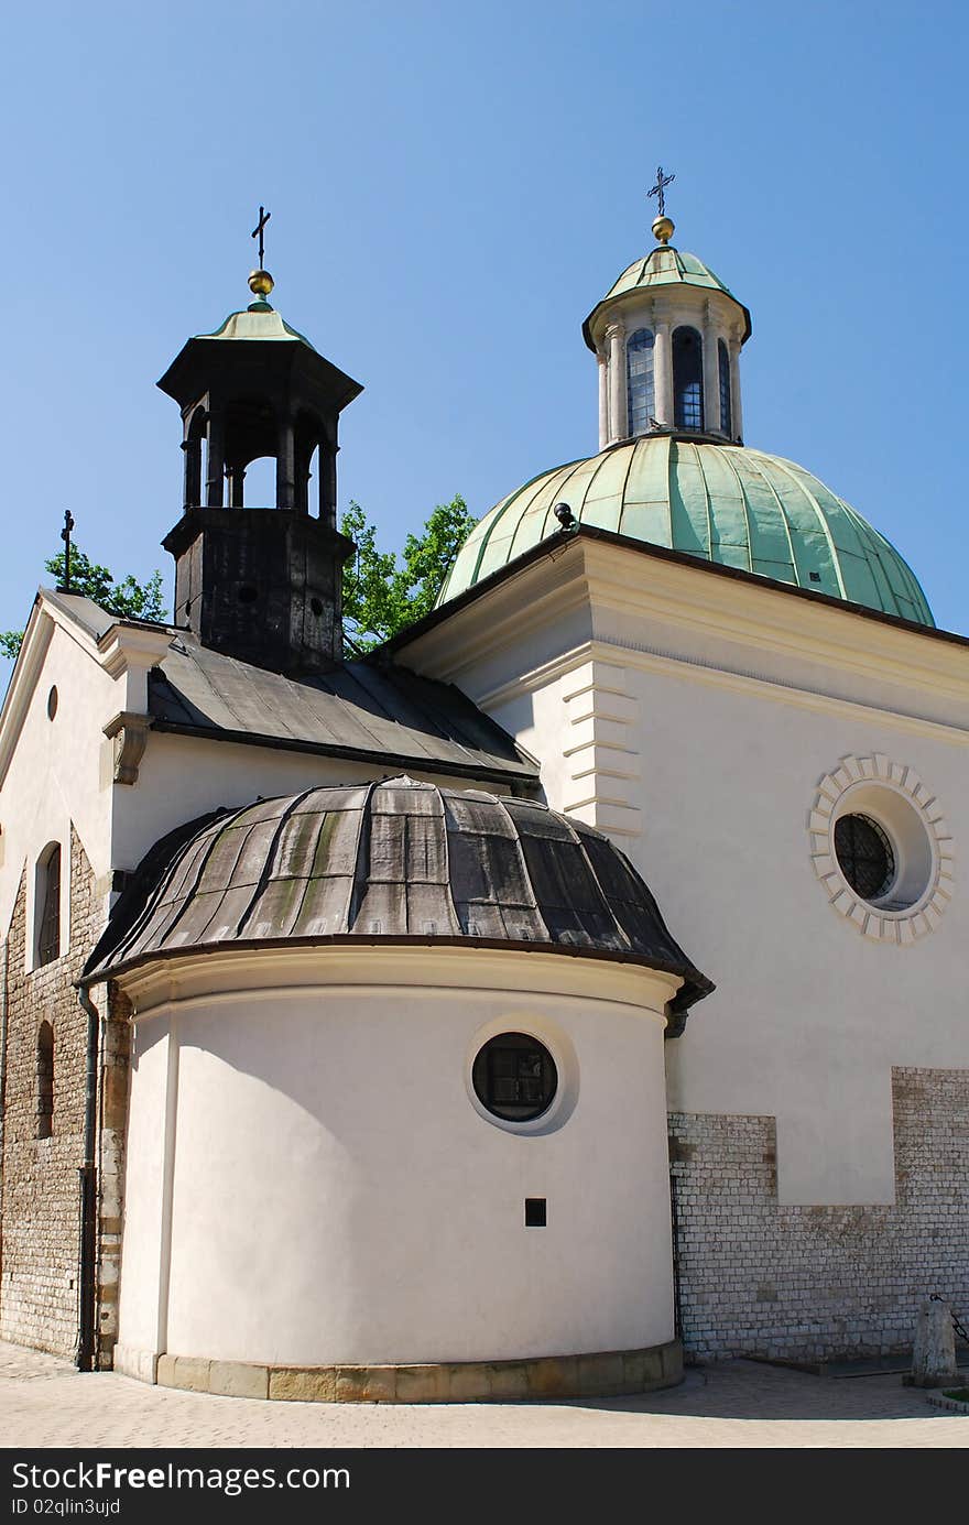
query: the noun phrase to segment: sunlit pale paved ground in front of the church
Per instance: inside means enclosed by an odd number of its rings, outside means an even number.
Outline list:
[[[641,1398],[327,1405],[214,1398],[0,1344],[0,1446],[955,1447],[969,1415],[897,1376],[810,1377],[749,1360]]]

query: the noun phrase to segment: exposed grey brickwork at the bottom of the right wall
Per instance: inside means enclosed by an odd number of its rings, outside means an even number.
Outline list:
[[[774,1118],[670,1113],[684,1345],[882,1356],[938,1292],[969,1315],[969,1071],[894,1069],[896,1205],[780,1206]]]

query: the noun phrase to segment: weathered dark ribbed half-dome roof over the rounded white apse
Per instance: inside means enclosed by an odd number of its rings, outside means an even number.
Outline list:
[[[713,990],[629,859],[536,801],[395,778],[259,801],[159,848],[82,984],[229,946],[378,939],[645,964],[682,976],[679,1011]]]

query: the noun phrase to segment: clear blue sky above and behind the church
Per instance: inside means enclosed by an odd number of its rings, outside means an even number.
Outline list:
[[[11,11],[0,628],[66,506],[169,590],[154,381],[249,300],[259,201],[275,305],[366,387],[340,503],[400,544],[595,451],[580,325],[650,247],[662,162],[674,242],[752,311],[746,442],[847,497],[967,633],[967,32],[949,3]]]

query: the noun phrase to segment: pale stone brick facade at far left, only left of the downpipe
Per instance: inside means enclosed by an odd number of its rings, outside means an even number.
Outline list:
[[[70,946],[61,958],[32,973],[24,968],[26,898],[24,877],[6,958],[0,1336],[72,1356],[78,1339],[78,1168],[84,1162],[87,1052],[87,1017],[73,981],[101,932],[104,913],[73,830]],[[37,1034],[44,1020],[53,1026],[50,1138],[37,1136]]]

